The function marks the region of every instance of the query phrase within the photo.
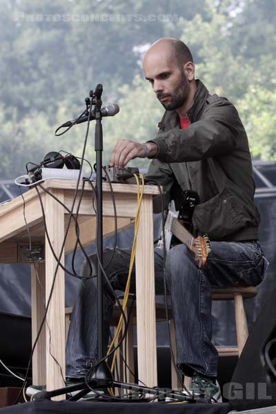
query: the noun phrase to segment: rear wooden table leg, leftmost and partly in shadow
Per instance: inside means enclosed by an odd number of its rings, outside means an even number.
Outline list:
[[[37,338],[45,314],[45,264],[31,266],[32,275],[32,346]],[[41,329],[37,345],[32,356],[32,384],[46,384],[46,330]]]

